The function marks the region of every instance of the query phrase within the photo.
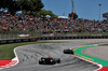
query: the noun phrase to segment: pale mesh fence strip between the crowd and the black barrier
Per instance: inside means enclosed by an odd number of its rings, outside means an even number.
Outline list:
[[[0,34],[0,40],[12,40],[12,39],[24,39],[24,38],[30,38],[30,37],[38,37],[38,38],[80,38],[80,39],[85,39],[85,38],[105,38],[108,36],[108,32],[67,32],[67,33],[42,33],[42,32],[29,32],[29,33],[4,33],[4,34]],[[49,39],[50,40],[50,39]]]

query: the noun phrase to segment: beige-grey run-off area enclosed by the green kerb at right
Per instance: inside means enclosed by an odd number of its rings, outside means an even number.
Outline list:
[[[92,51],[92,54],[90,54]],[[108,46],[89,47],[81,51],[83,54],[108,61]]]

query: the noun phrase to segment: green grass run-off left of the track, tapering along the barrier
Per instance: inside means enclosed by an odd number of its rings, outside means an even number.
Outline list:
[[[12,43],[12,44],[1,44],[0,45],[0,60],[11,60],[15,57],[14,48],[22,45],[39,44],[39,43],[62,43],[62,42],[48,42],[48,41],[37,41],[37,42],[23,42],[23,43]]]

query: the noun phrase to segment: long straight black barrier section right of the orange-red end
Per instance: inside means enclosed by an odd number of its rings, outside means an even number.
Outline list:
[[[71,40],[71,39],[108,39],[108,36],[87,37],[38,37],[38,40]]]

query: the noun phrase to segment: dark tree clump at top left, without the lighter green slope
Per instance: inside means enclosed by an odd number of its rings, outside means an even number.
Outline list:
[[[8,8],[13,15],[19,10],[32,13],[40,11],[43,6],[41,0],[0,0],[0,8]]]

